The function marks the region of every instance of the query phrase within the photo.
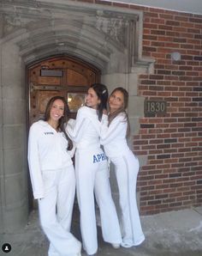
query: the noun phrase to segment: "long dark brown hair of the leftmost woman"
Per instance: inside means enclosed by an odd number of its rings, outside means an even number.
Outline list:
[[[73,148],[73,142],[70,139],[70,137],[68,137],[68,134],[65,131],[65,125],[68,123],[68,114],[70,113],[70,111],[68,108],[68,103],[64,99],[64,97],[54,96],[54,97],[50,98],[50,100],[48,101],[48,104],[45,108],[45,121],[47,122],[50,119],[50,109],[56,100],[61,100],[64,103],[64,113],[63,113],[62,117],[58,120],[58,125],[56,127],[56,130],[63,132],[64,136],[68,140],[68,150],[71,150]]]

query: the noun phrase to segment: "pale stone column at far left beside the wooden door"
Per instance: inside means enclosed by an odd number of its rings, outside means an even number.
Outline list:
[[[15,43],[0,47],[0,232],[12,232],[28,216],[26,69]]]

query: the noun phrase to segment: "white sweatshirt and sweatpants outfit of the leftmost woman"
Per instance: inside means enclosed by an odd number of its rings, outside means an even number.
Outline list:
[[[80,241],[69,233],[75,194],[68,141],[47,122],[30,127],[28,163],[33,197],[39,199],[41,226],[50,241],[49,256],[80,255]]]

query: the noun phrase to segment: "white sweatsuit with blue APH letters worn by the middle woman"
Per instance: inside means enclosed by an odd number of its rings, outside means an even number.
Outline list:
[[[80,206],[80,231],[86,253],[98,250],[95,198],[99,206],[104,241],[121,243],[116,207],[111,197],[109,171],[106,156],[100,148],[101,123],[97,111],[80,107],[73,127],[68,123],[67,131],[76,144],[75,171],[76,190]]]

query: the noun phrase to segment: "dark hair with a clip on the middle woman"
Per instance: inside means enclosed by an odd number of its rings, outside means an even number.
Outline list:
[[[103,116],[104,109],[107,109],[107,100],[108,100],[108,89],[103,83],[93,83],[90,88],[93,88],[93,90],[98,95],[98,99],[100,100],[100,103],[98,104],[97,113],[98,113],[98,119],[101,121]]]

